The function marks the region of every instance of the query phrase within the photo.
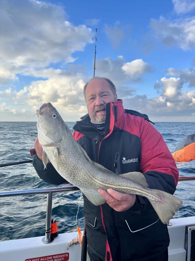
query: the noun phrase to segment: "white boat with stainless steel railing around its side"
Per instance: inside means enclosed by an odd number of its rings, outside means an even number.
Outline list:
[[[195,180],[194,177],[179,177],[179,182]],[[67,243],[76,238],[77,232],[59,234],[51,238],[52,194],[58,192],[77,191],[75,186],[31,189],[1,192],[0,197],[47,194],[45,236],[6,240],[0,242],[1,261],[80,261],[80,244],[73,244],[67,250]],[[195,216],[171,219],[168,226],[170,245],[169,261],[195,260]],[[49,232],[48,232],[49,231]],[[160,235],[159,235],[160,237]],[[87,255],[87,261],[90,261]],[[120,260],[122,261],[122,260]]]

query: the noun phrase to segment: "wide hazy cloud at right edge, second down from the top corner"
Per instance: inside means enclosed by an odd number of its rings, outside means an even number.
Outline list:
[[[195,48],[195,17],[174,22],[160,17],[150,20],[151,34],[166,46],[177,46],[183,50]]]

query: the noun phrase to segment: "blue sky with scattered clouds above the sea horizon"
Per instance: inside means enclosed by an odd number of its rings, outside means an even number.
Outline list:
[[[108,77],[124,108],[195,122],[195,1],[0,1],[1,121],[87,113],[83,86]]]

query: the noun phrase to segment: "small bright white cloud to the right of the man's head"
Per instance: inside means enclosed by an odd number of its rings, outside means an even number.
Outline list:
[[[133,78],[139,79],[145,73],[152,73],[153,69],[148,63],[144,62],[142,59],[137,59],[131,61],[130,63],[125,63],[122,66],[122,70]]]

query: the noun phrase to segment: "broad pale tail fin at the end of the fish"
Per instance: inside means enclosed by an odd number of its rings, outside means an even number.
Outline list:
[[[159,216],[160,220],[163,224],[167,224],[170,219],[175,214],[175,211],[183,204],[183,202],[178,198],[175,197],[165,191],[151,189],[153,193],[159,197],[159,201],[155,200],[148,200],[150,201],[151,205],[153,206],[154,210],[156,211],[157,215]]]

